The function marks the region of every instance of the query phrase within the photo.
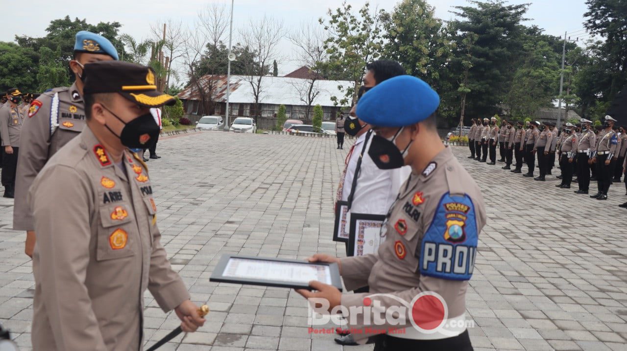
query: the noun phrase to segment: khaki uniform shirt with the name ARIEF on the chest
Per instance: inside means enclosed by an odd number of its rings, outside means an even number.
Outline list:
[[[85,128],[29,190],[34,350],[138,350],[146,288],[166,312],[189,298],[159,242],[145,164],[126,151],[122,166]]]

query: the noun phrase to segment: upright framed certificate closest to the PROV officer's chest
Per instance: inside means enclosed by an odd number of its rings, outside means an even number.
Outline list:
[[[351,213],[349,255],[363,256],[369,253],[376,253],[379,250],[379,245],[386,240],[386,237],[381,237],[381,227],[385,220],[385,215]]]

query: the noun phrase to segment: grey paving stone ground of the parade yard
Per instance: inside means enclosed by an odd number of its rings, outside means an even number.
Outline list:
[[[211,313],[200,332],[161,350],[342,350],[307,330],[295,292],[211,283],[221,255],[344,255],[332,242],[333,201],[352,141],[204,132],[163,138],[150,160],[162,243],[192,300]],[[453,151],[482,188],[488,223],[466,297],[475,350],[626,350],[627,232],[624,185],[608,201],[574,195]],[[537,171],[536,171],[537,173]],[[556,169],[554,174],[559,174]],[[591,188],[595,189],[596,185]],[[31,345],[33,276],[13,201],[0,198],[0,323]],[[179,324],[149,293],[146,345]],[[345,347],[371,350],[371,345]]]

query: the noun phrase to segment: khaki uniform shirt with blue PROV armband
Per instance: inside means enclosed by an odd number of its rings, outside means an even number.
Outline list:
[[[394,295],[409,303],[421,292],[436,292],[445,299],[449,318],[463,315],[477,237],[485,223],[481,191],[451,149],[446,148],[423,173],[412,174],[401,186],[398,200],[387,215],[383,232],[386,240],[379,251],[342,258],[342,278],[347,290],[370,286],[369,293],[342,294],[342,306],[362,307],[364,297],[376,293]],[[437,247],[444,250],[438,254]],[[455,262],[447,263],[442,252],[455,255],[458,249],[467,250],[468,255],[460,260],[461,265],[453,267]],[[394,297],[371,298],[384,307],[403,306]],[[412,328],[409,317],[406,318],[407,325],[396,327]],[[350,318],[347,320],[351,328],[365,328],[363,315],[357,317],[356,324],[350,324]],[[395,326],[376,326],[377,329],[391,327]],[[353,337],[365,342],[369,335],[354,333]]]

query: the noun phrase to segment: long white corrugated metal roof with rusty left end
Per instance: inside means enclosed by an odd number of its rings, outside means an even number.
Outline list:
[[[231,94],[229,96],[230,103],[254,103],[253,88],[246,80],[247,76],[231,76]],[[213,100],[215,102],[226,102],[226,76],[207,75],[201,78],[201,84],[206,89],[211,83],[216,84],[216,92]],[[261,98],[260,103],[264,104],[285,104],[285,105],[304,105],[301,98],[306,94],[304,91],[308,88],[308,79],[289,78],[289,77],[272,77],[264,76],[261,80]],[[344,96],[338,86],[352,86],[351,81],[327,81],[319,80],[314,83],[315,88],[320,93],[314,100],[314,104],[320,106],[335,106],[331,100],[332,96],[338,99]],[[303,92],[301,94],[300,92]],[[180,99],[199,100],[199,92],[195,86],[188,86],[177,95]]]

